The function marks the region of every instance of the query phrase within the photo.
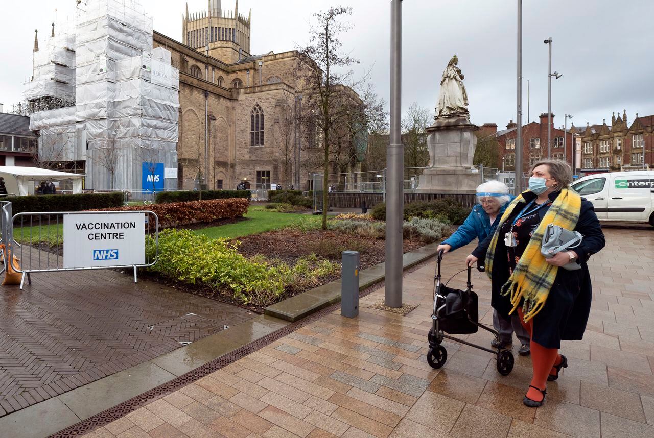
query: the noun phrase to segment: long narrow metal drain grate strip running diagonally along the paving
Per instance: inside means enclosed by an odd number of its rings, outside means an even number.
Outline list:
[[[403,276],[405,277],[407,274],[410,274],[413,271],[416,271],[417,269],[420,269],[421,267],[428,265],[431,262],[432,259],[423,261],[422,263],[419,263],[418,265],[415,265],[414,267],[411,267],[410,269],[404,271]],[[383,281],[377,284],[373,284],[373,286],[370,286],[368,289],[360,292],[359,296],[364,297],[368,294],[371,294],[372,292],[375,292],[383,288],[384,284],[385,282]],[[180,377],[177,377],[177,379],[173,379],[170,382],[167,382],[165,384],[157,386],[152,390],[149,390],[148,392],[144,392],[140,396],[136,396],[132,399],[129,399],[128,401],[125,401],[124,403],[120,403],[120,405],[107,409],[107,411],[103,411],[99,414],[92,416],[91,418],[87,418],[86,420],[79,422],[67,429],[59,431],[54,435],[50,435],[50,437],[48,438],[77,437],[78,435],[82,435],[83,433],[88,433],[89,431],[95,430],[97,428],[101,428],[102,426],[105,426],[105,424],[109,424],[114,420],[118,420],[118,418],[121,418],[122,416],[125,416],[129,413],[132,413],[133,411],[136,411],[140,407],[147,405],[148,403],[154,401],[155,399],[158,399],[163,396],[167,396],[171,392],[179,390],[179,388],[183,388],[184,386],[192,382],[195,382],[196,380],[199,380],[202,377],[205,377],[215,371],[218,371],[218,369],[221,369],[222,367],[225,367],[230,363],[236,362],[241,358],[245,358],[245,356],[247,356],[248,354],[255,352],[256,350],[259,350],[260,348],[269,345],[270,343],[273,343],[274,341],[277,341],[283,338],[284,336],[289,335],[290,333],[293,333],[297,329],[302,328],[303,326],[306,326],[311,322],[319,320],[320,318],[322,318],[322,316],[325,316],[326,314],[336,311],[337,309],[339,309],[339,307],[341,307],[341,303],[332,304],[322,309],[321,311],[315,312],[314,314],[311,314],[306,318],[303,318],[298,322],[292,322],[291,324],[288,324],[288,326],[285,326],[277,331],[273,331],[273,333],[270,333],[269,335],[266,335],[261,339],[257,339],[256,341],[249,343],[248,345],[243,345],[240,348],[237,348],[236,350],[233,350],[232,352],[225,354],[224,356],[220,356],[220,358],[216,358],[215,360],[206,363],[205,365],[202,365],[201,367],[196,368],[193,371],[190,371]]]

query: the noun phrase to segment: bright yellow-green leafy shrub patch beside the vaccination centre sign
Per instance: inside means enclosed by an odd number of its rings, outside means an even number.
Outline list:
[[[154,257],[155,251],[154,238],[146,237],[146,256]],[[271,263],[263,256],[248,259],[238,252],[237,244],[227,239],[166,229],[159,233],[157,261],[148,269],[173,280],[231,294],[244,304],[264,307],[287,290],[298,290],[317,282],[318,277],[337,273],[339,265],[315,255],[301,258],[295,267]]]

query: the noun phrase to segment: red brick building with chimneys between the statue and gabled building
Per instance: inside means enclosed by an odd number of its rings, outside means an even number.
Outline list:
[[[517,124],[513,120],[509,121],[506,129],[497,130],[494,123],[483,124],[477,136],[480,139],[496,137],[500,153],[498,154],[498,169],[508,171],[515,170],[515,144],[517,137]],[[564,150],[564,131],[554,127],[554,114],[551,116],[551,154],[552,158],[562,160],[564,154],[568,163],[572,160],[572,142],[574,133],[568,130],[566,133],[566,148]],[[547,113],[539,116],[538,122],[531,122],[523,125],[523,172],[528,172],[529,167],[538,160],[547,158]]]

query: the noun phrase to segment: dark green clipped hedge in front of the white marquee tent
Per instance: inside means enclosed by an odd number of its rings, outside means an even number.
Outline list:
[[[10,201],[13,214],[30,211],[84,211],[120,207],[125,203],[122,193],[75,195],[27,195],[3,198]]]

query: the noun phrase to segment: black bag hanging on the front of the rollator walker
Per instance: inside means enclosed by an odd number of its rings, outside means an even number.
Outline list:
[[[479,298],[475,292],[439,286],[436,303],[438,326],[445,333],[468,335],[477,333]]]

